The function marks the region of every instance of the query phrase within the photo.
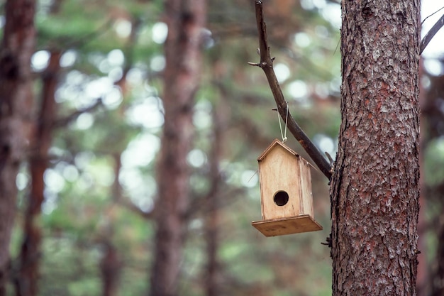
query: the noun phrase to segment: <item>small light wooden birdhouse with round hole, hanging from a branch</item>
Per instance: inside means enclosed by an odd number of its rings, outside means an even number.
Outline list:
[[[279,140],[257,161],[262,221],[252,226],[265,236],[322,230],[313,218],[309,162]]]

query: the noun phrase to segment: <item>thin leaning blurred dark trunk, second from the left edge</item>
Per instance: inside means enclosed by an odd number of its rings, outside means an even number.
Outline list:
[[[48,67],[43,72],[43,89],[40,111],[35,124],[33,149],[29,167],[31,189],[23,227],[23,242],[18,258],[16,295],[35,296],[38,294],[38,270],[40,261],[41,229],[38,218],[45,199],[43,175],[48,168],[48,150],[52,143],[52,128],[56,114],[55,90],[60,73],[60,51],[52,52]]]

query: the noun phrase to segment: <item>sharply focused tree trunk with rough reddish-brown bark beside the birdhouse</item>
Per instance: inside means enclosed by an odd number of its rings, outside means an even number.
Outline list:
[[[333,295],[416,295],[419,1],[342,1]]]

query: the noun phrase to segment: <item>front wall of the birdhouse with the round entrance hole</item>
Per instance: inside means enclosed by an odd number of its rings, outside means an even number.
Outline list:
[[[259,162],[262,219],[277,219],[301,214],[301,177],[299,157],[275,146]],[[284,206],[274,202],[274,194],[287,192]]]

